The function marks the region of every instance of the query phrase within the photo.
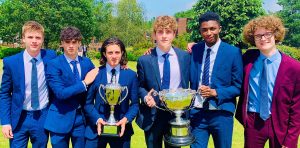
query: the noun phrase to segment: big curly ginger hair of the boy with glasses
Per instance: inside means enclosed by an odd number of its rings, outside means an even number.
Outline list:
[[[243,29],[243,40],[252,46],[255,46],[254,32],[258,28],[264,28],[274,33],[275,43],[283,40],[285,28],[281,19],[274,15],[260,16],[248,22]]]

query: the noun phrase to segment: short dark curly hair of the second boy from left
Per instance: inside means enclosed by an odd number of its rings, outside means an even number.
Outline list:
[[[82,35],[80,33],[80,30],[73,26],[65,27],[60,32],[60,41],[66,41],[66,40],[81,41]]]

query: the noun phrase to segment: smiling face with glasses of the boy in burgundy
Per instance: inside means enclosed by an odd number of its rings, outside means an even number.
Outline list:
[[[276,50],[275,38],[272,31],[265,28],[258,28],[254,32],[256,47],[263,53],[270,53]]]

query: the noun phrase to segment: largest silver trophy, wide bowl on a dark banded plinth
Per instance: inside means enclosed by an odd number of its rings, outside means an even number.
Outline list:
[[[191,108],[196,91],[191,89],[164,89],[160,92],[153,92],[159,95],[160,100],[166,110],[175,113],[176,118],[169,121],[170,132],[164,135],[164,140],[172,146],[187,146],[195,141],[195,137],[190,133],[190,121],[181,118],[184,111]],[[163,109],[158,107],[159,109]],[[164,109],[163,109],[164,110]]]

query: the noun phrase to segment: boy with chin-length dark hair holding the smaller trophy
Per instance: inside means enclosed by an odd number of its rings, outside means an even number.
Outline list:
[[[130,139],[133,135],[132,121],[138,112],[138,81],[136,73],[130,69],[121,69],[126,65],[126,50],[121,40],[118,38],[109,38],[104,41],[101,47],[102,65],[99,74],[88,91],[88,96],[84,110],[87,116],[86,127],[86,148],[105,148],[107,143],[112,148],[130,148]],[[110,107],[100,97],[99,86],[112,83],[113,78],[121,86],[128,88],[127,97],[115,106],[114,116],[117,126],[121,126],[119,137],[101,136],[101,126],[106,124],[109,117]],[[102,96],[104,95],[104,92]],[[125,97],[121,94],[121,98]],[[100,135],[100,137],[98,137]]]

